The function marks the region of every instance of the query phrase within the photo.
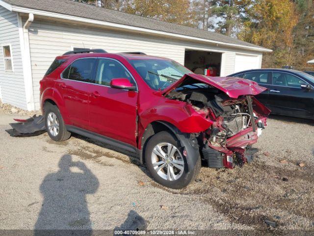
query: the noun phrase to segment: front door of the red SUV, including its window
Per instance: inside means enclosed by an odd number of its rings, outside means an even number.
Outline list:
[[[113,89],[110,81],[131,73],[117,60],[98,59],[96,80],[89,96],[90,129],[106,137],[136,146],[137,91]]]

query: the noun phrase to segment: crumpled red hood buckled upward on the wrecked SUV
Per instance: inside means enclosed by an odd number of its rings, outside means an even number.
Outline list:
[[[257,95],[266,88],[259,86],[258,83],[237,77],[210,77],[199,74],[185,74],[183,77],[162,90],[163,95],[167,95],[173,89],[180,88],[185,85],[204,83],[225,92],[229,97],[237,98],[240,95]]]

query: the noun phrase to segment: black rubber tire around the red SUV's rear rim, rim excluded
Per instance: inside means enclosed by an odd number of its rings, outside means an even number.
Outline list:
[[[46,130],[47,130],[49,137],[53,141],[57,141],[57,142],[68,140],[71,137],[71,133],[69,131],[67,131],[67,129],[66,129],[63,118],[61,116],[61,113],[60,113],[58,107],[56,105],[51,104],[51,103],[46,103],[44,110],[45,110],[45,126],[46,126]],[[57,117],[58,123],[59,123],[59,131],[58,131],[58,134],[55,136],[52,135],[52,133],[49,131],[49,128],[48,128],[48,122],[49,122],[48,121],[48,115],[50,113],[55,114],[55,116]]]

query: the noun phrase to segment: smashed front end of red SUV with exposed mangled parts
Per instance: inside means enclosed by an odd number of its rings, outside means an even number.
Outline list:
[[[204,160],[210,168],[217,169],[232,169],[234,165],[250,162],[258,151],[252,145],[267,125],[270,111],[250,95],[229,100],[218,98],[214,103],[209,108],[212,111],[209,118],[214,122],[202,134]]]

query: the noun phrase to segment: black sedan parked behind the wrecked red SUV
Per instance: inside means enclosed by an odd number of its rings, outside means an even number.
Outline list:
[[[252,80],[268,90],[256,97],[272,114],[314,119],[314,77],[290,69],[254,69],[228,77]]]

